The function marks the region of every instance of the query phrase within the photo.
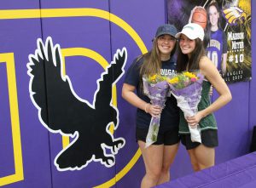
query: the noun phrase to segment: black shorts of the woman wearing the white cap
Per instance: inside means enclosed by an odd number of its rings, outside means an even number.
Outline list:
[[[218,131],[216,129],[207,129],[201,131],[201,143],[192,142],[190,134],[180,134],[181,141],[187,150],[194,149],[198,145],[206,145],[207,147],[218,146]]]

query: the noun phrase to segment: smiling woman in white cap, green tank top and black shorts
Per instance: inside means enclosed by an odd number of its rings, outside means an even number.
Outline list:
[[[179,40],[177,72],[199,70],[205,77],[205,81],[202,83],[198,113],[194,117],[184,117],[183,112],[180,112],[179,122],[181,141],[189,152],[194,170],[198,171],[214,165],[214,147],[218,146],[218,128],[212,112],[226,105],[232,96],[216,66],[205,55],[202,27],[195,23],[190,23],[183,26],[183,30],[177,33],[176,37]],[[219,94],[218,99],[212,104],[209,99],[211,84]],[[199,123],[202,143],[190,140],[188,123],[192,127]]]

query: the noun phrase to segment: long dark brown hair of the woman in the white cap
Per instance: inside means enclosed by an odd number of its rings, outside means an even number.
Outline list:
[[[177,72],[199,70],[199,61],[206,55],[203,42],[200,38],[195,39],[195,49],[191,53],[190,59],[188,54],[183,54],[181,48],[177,49]]]

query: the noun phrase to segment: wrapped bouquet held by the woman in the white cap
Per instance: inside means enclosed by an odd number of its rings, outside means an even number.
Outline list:
[[[203,78],[198,71],[183,71],[167,80],[184,117],[193,117],[198,112],[197,105],[201,100]],[[201,130],[198,124],[193,127],[189,125],[189,132],[193,142],[201,143]]]

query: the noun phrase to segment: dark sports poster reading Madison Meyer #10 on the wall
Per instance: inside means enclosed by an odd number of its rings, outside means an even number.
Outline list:
[[[226,83],[252,79],[250,0],[167,0],[167,14],[178,31],[189,22],[204,27],[207,56]]]

